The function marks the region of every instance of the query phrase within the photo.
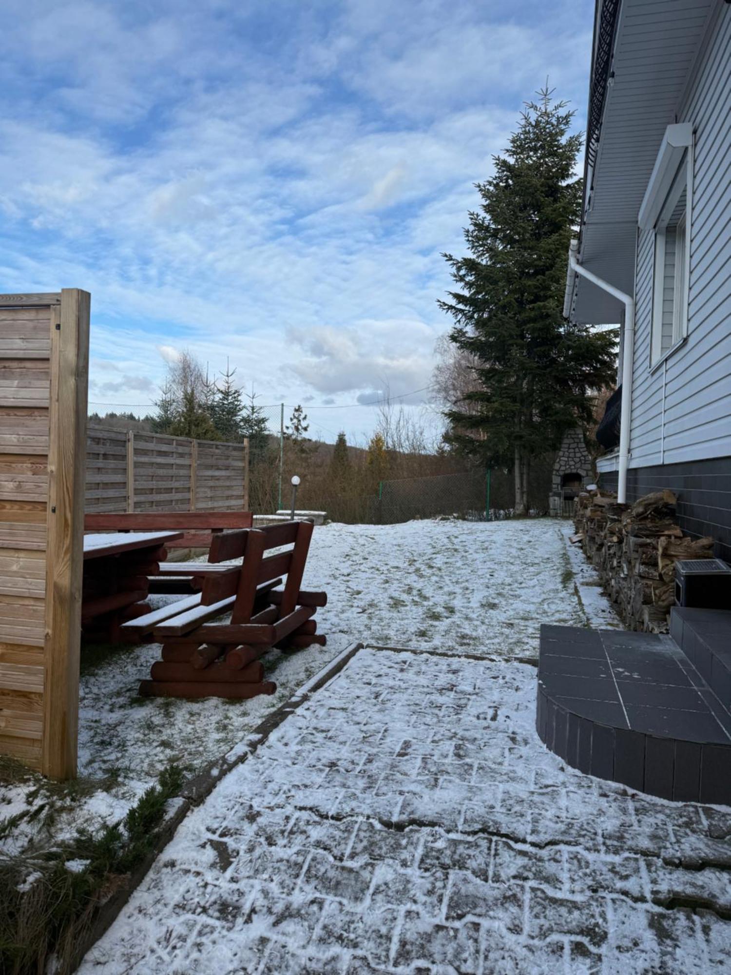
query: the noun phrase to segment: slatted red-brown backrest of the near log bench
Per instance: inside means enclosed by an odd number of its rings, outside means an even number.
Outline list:
[[[226,531],[216,535],[211,544],[209,561],[228,562],[244,559],[242,566],[232,570],[230,583],[226,579],[211,579],[204,583],[203,603],[222,598],[223,588],[229,584],[236,593],[231,615],[232,623],[248,623],[254,610],[256,587],[281,575],[287,575],[285,591],[278,616],[287,616],[294,610],[302,584],[307,553],[312,538],[312,522],[287,522],[240,531]],[[292,545],[289,552],[264,556],[269,549]],[[208,587],[208,588],[207,588]]]

